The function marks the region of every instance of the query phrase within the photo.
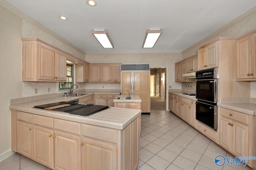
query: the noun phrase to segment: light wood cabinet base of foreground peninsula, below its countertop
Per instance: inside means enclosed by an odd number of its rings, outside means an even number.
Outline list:
[[[12,150],[48,168],[135,170],[138,166],[140,116],[118,130],[22,111],[11,113]]]

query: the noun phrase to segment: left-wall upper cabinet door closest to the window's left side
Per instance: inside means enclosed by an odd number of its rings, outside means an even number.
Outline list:
[[[66,55],[56,51],[54,65],[56,80],[66,81]]]

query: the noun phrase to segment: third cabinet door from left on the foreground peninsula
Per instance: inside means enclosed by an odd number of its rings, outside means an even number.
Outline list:
[[[55,170],[81,170],[81,137],[54,131]]]

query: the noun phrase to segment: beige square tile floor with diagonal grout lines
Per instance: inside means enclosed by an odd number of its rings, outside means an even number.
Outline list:
[[[247,166],[216,166],[217,155],[232,156],[170,111],[142,115],[137,170],[249,170]],[[18,153],[0,162],[0,170],[50,170]]]

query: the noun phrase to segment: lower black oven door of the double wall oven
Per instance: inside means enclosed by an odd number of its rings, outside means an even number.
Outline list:
[[[196,120],[217,130],[217,106],[196,102]]]

